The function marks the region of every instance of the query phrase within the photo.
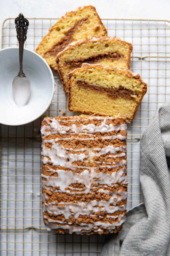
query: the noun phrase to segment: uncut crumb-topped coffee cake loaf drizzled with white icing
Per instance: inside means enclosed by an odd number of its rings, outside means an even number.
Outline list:
[[[122,229],[127,201],[126,119],[44,118],[42,211],[57,233],[107,234]]]

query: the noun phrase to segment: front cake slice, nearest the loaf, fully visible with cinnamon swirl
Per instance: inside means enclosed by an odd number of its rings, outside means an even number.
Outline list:
[[[69,110],[132,121],[147,84],[130,70],[84,63],[69,73]]]

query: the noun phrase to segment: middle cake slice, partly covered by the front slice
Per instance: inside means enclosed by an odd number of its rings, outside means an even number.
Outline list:
[[[56,58],[64,91],[67,92],[68,73],[83,62],[103,66],[130,68],[132,45],[119,38],[87,38],[69,45]]]

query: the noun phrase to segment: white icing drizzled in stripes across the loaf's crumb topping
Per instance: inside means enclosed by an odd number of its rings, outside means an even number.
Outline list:
[[[69,117],[68,117],[69,118]],[[71,122],[81,122],[87,119],[81,119],[77,117],[76,119],[69,118]],[[56,138],[47,140],[43,140],[42,142],[42,162],[44,164],[51,163],[51,168],[47,167],[48,172],[57,173],[56,176],[48,176],[42,174],[42,177],[46,180],[42,180],[42,187],[53,193],[69,193],[70,195],[74,194],[89,194],[89,193],[103,193],[110,195],[109,200],[91,200],[89,202],[50,202],[46,203],[45,200],[49,200],[49,195],[46,193],[42,194],[42,210],[43,212],[48,212],[52,215],[61,215],[65,217],[66,220],[69,219],[71,215],[77,219],[79,215],[90,215],[95,216],[96,212],[100,211],[107,211],[107,214],[113,214],[115,211],[125,211],[126,204],[117,206],[117,202],[120,200],[124,200],[127,198],[127,192],[118,190],[116,192],[111,192],[108,187],[114,187],[118,182],[120,184],[127,184],[127,175],[126,175],[126,161],[122,159],[121,161],[116,163],[113,161],[116,157],[124,157],[126,155],[126,148],[125,146],[114,147],[113,145],[108,145],[104,148],[88,148],[84,147],[81,149],[73,149],[73,148],[65,148],[63,145],[59,145],[58,141],[65,141],[65,140],[98,140],[95,133],[108,133],[112,131],[121,131],[127,128],[126,124],[121,124],[118,126],[114,126],[113,124],[106,124],[107,119],[113,120],[113,117],[100,117],[100,116],[93,116],[88,117],[89,120],[101,120],[101,125],[95,126],[95,124],[81,124],[80,127],[77,127],[75,124],[71,126],[61,125],[60,123],[65,122],[60,119],[53,119],[53,118],[45,118],[44,121],[47,122],[47,125],[42,126],[41,134],[42,138],[44,139],[48,135],[52,134],[72,134],[78,135],[77,137],[66,136],[63,138]],[[88,138],[79,137],[79,135],[88,135]],[[90,137],[91,136],[91,137]],[[92,137],[93,136],[93,137]],[[120,139],[125,140],[126,137],[122,136],[121,134],[118,135],[111,135],[111,136],[100,136],[103,140],[114,140]],[[51,143],[51,148],[46,148],[45,144]],[[74,154],[73,154],[73,153]],[[118,153],[119,152],[119,153]],[[109,155],[107,155],[109,153]],[[102,155],[107,156],[107,162],[98,162],[94,161],[94,157],[100,157]],[[111,162],[109,161],[111,159]],[[82,162],[82,165],[75,164],[76,161]],[[95,163],[94,167],[83,166],[85,163]],[[98,165],[96,165],[98,164]],[[86,164],[87,165],[87,164]],[[53,166],[61,166],[64,168],[68,168],[69,170],[62,170],[62,169],[55,169]],[[114,171],[115,167],[122,166],[124,168],[120,168],[117,171]],[[108,168],[112,170],[111,174],[101,172],[95,172],[96,169],[99,168]],[[73,170],[82,169],[81,173],[73,172]],[[96,186],[93,187],[92,184],[97,183],[100,187]],[[82,184],[84,185],[83,188],[73,187],[72,184]],[[58,187],[58,189],[57,189]],[[92,189],[96,188],[97,190],[93,192]],[[46,219],[46,228],[47,230],[51,229],[69,229],[69,233],[75,232],[76,234],[81,234],[83,232],[90,232],[93,228],[95,232],[102,231],[103,229],[115,229],[116,226],[121,226],[122,223],[125,221],[124,215],[119,216],[109,216],[107,218],[117,219],[114,223],[110,222],[101,222],[97,221],[93,224],[89,223],[81,223],[79,227],[72,226],[71,223],[67,221],[60,221],[60,220],[53,220],[50,217],[43,215],[44,219]],[[100,216],[100,218],[103,218]],[[68,225],[68,224],[69,225]],[[73,224],[74,225],[74,224]],[[109,231],[112,232],[112,231]]]

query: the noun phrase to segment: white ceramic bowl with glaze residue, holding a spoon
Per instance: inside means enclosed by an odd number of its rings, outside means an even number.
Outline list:
[[[19,48],[0,50],[0,123],[21,125],[34,121],[49,107],[54,95],[54,76],[45,59],[24,48],[23,72],[30,79],[27,104],[18,107],[12,96],[12,81],[19,72]]]

